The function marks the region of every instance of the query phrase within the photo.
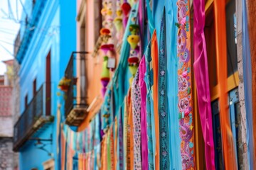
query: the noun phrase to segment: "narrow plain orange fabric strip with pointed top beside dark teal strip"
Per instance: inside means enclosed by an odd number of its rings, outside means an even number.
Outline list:
[[[155,121],[155,132],[156,132],[156,170],[159,170],[159,109],[158,109],[158,72],[159,72],[159,57],[158,57],[158,45],[156,38],[156,30],[152,35],[151,39],[151,57],[153,63],[154,72],[154,84],[153,84],[153,100],[154,100],[154,121]]]

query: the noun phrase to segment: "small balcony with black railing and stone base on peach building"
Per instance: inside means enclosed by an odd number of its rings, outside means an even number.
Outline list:
[[[65,123],[79,126],[87,116],[85,55],[87,52],[72,52],[65,78],[71,83],[65,92]]]

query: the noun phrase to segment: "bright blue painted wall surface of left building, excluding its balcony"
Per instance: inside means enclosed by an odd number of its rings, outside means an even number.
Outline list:
[[[36,79],[36,89],[46,81],[46,56],[50,51],[51,55],[51,114],[55,117],[53,123],[45,125],[33,137],[49,139],[53,135],[53,142],[48,144],[46,149],[53,153],[55,169],[58,168],[57,143],[57,106],[63,99],[57,96],[58,82],[63,77],[65,67],[68,64],[70,54],[76,49],[76,1],[73,0],[37,0],[46,1],[46,4],[38,19],[36,28],[30,38],[27,49],[21,57],[21,69],[19,72],[21,86],[21,113],[25,110],[25,96],[28,95],[28,103],[33,98],[33,80]],[[25,21],[26,13],[32,13],[32,1],[26,0],[21,20]],[[26,11],[26,12],[25,12]],[[29,16],[28,19],[33,18]],[[29,20],[28,20],[29,22]],[[21,23],[21,37],[25,38],[25,30],[29,28]],[[51,157],[41,149],[34,146],[35,141],[28,141],[20,149],[20,169],[29,170],[37,168],[43,170],[43,162]]]

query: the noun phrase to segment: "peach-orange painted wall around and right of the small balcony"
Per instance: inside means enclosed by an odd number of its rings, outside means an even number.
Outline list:
[[[95,42],[97,41],[95,31],[99,31],[95,28],[99,24],[95,22],[95,8],[99,8],[99,6],[95,4],[95,0],[86,0],[85,3],[82,3],[82,1],[85,0],[77,0],[77,11],[81,13],[80,20],[77,18],[77,50],[90,52],[90,55],[87,55],[85,60],[87,104],[90,106],[95,98],[97,98],[97,101],[90,109],[87,118],[85,118],[84,122],[78,128],[79,131],[86,128],[88,123],[90,123],[95,113],[99,111],[103,100],[101,94],[102,84],[100,81],[103,57],[100,51],[95,57],[92,57],[92,52],[95,50]],[[85,43],[81,40],[83,36],[81,27],[83,24],[85,25]],[[77,71],[80,72],[80,67],[78,67]]]

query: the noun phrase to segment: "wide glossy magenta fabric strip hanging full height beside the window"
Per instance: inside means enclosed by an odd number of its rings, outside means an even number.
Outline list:
[[[208,61],[206,53],[205,1],[193,0],[194,8],[194,57],[193,64],[198,94],[198,110],[201,118],[203,139],[205,141],[206,169],[215,169],[215,153],[213,143],[212,113],[210,108],[210,86],[208,77]]]

